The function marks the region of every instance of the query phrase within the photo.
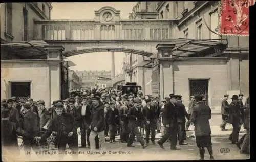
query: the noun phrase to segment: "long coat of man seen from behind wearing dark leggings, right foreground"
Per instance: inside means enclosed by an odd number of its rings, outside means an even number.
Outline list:
[[[211,134],[209,119],[211,119],[211,110],[209,106],[199,102],[193,107],[190,120],[195,124],[196,136]]]

